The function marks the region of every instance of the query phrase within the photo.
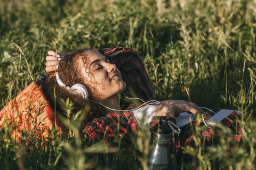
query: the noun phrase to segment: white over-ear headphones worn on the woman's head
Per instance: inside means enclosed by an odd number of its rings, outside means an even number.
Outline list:
[[[61,81],[60,75],[58,74],[58,72],[56,73],[56,80],[57,80],[57,83],[61,87],[70,90],[73,94],[81,95],[84,99],[88,99],[89,98],[89,92],[88,92],[88,90],[86,89],[86,87],[83,84],[77,83],[77,84],[74,84],[70,88],[70,87],[66,86],[66,84],[63,83],[63,81]]]

